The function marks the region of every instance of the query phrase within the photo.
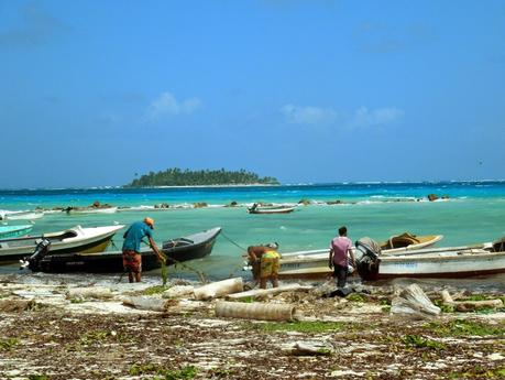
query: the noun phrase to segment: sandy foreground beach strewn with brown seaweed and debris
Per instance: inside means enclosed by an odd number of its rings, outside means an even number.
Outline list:
[[[504,308],[391,313],[397,286],[323,296],[330,284],[246,303],[292,305],[297,322],[218,317],[201,284],[0,278],[1,379],[462,379],[505,374]],[[184,286],[182,286],[184,285]],[[326,287],[325,287],[326,286]],[[194,287],[195,289],[195,287]],[[449,290],[451,291],[451,290]],[[427,290],[437,303],[439,292]],[[466,298],[499,298],[470,294]],[[138,300],[136,303],[132,300]],[[139,300],[142,302],[139,303]],[[132,306],[133,305],[133,306]]]

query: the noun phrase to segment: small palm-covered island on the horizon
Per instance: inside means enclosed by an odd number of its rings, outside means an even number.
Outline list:
[[[216,186],[216,185],[278,185],[277,178],[260,177],[255,173],[239,171],[201,170],[190,171],[171,167],[157,173],[150,172],[140,178],[133,180],[124,187],[153,186]]]

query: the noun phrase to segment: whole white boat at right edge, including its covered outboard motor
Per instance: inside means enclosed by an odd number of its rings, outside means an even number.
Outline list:
[[[371,240],[371,239],[369,239]],[[365,281],[393,278],[468,278],[505,272],[505,238],[483,248],[424,249],[416,254],[382,256],[372,242],[356,242],[358,273]]]

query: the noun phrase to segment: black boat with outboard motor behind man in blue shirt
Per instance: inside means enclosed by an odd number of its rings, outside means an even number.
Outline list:
[[[209,256],[221,227],[188,235],[183,238],[163,242],[162,251],[167,257],[167,264],[175,264]],[[28,260],[28,268],[32,271],[66,273],[121,273],[124,271],[122,251],[105,251],[96,253],[57,253],[51,246],[48,251],[41,243],[41,253],[36,258]],[[141,250],[142,270],[147,271],[161,267],[156,254],[151,249]]]

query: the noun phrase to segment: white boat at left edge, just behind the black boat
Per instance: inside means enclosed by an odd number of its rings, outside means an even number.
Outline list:
[[[17,261],[33,253],[41,239],[51,241],[51,252],[102,252],[123,225],[76,226],[63,231],[0,240],[0,262]]]

